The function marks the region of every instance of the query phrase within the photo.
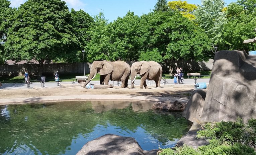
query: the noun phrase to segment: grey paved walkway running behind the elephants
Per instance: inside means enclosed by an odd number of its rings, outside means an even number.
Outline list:
[[[173,85],[173,79],[166,79],[166,81],[168,83],[165,83],[166,85]],[[141,80],[140,79],[137,79],[135,80],[135,85],[140,85],[140,82]],[[153,80],[146,80],[147,84],[148,85],[155,85],[155,81]],[[150,84],[148,83],[150,82]],[[163,85],[163,79],[161,80],[161,85]],[[206,83],[209,83],[209,78],[197,78],[197,82],[206,82]],[[72,84],[72,82],[60,82],[61,84]],[[78,83],[78,82],[76,82]],[[100,84],[100,81],[91,81],[91,83],[94,83],[94,84]],[[118,82],[118,81],[109,81],[109,84],[114,84],[114,85],[121,85],[121,82]],[[193,78],[186,78],[183,80],[183,83],[184,84],[193,84],[194,83],[194,79]],[[1,89],[13,89],[13,83],[2,83],[2,87],[0,87]],[[130,86],[131,85],[131,80],[128,81],[128,85]],[[33,87],[41,87],[42,84],[40,82],[35,82],[35,83],[31,83],[29,85],[30,88],[33,88]],[[45,82],[45,87],[57,87],[58,84],[57,82]],[[28,84],[26,83],[15,83],[15,88],[28,88]]]

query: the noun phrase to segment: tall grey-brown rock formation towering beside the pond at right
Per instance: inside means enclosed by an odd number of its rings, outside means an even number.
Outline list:
[[[256,56],[242,51],[215,54],[200,121],[245,122],[256,118]]]

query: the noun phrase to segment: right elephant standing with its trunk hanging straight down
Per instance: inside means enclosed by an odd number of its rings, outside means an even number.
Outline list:
[[[154,80],[156,82],[156,87],[160,87],[160,81],[162,78],[163,69],[161,65],[154,61],[140,61],[135,62],[132,64],[131,67],[131,79],[133,79],[131,88],[134,88],[134,81],[136,79],[136,75],[141,75],[141,85],[140,88],[142,89],[143,86],[148,89],[146,79]]]

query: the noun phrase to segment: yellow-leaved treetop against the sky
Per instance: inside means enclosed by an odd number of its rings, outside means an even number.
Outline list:
[[[187,17],[190,20],[194,20],[195,16],[192,14],[197,8],[194,4],[188,4],[187,1],[169,1],[168,6],[172,10],[179,10],[184,17]]]

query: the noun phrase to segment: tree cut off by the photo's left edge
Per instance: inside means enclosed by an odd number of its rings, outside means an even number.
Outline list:
[[[10,7],[11,2],[8,0],[0,0],[0,64],[4,59],[4,43],[7,38],[7,30],[10,27],[10,18],[16,11]]]

